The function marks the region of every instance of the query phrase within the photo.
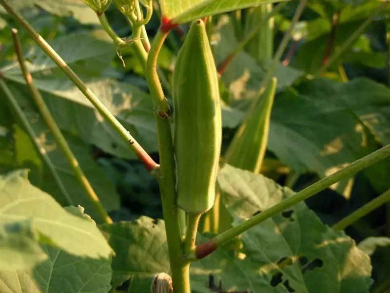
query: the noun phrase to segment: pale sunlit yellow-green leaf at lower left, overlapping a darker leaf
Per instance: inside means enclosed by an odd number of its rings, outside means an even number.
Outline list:
[[[93,220],[62,209],[28,182],[26,170],[0,176],[0,207],[0,226],[28,222],[40,241],[75,255],[108,258],[112,253]]]

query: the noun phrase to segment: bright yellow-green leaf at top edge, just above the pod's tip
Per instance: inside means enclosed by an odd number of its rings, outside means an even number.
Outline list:
[[[163,17],[172,23],[183,23],[198,18],[233,11],[277,0],[160,0]]]

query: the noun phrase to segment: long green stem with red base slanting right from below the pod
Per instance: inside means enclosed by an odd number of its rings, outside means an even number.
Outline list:
[[[213,252],[219,246],[225,244],[226,242],[232,240],[235,236],[245,232],[246,230],[254,227],[255,225],[267,220],[268,218],[282,212],[285,209],[296,205],[297,203],[304,201],[305,199],[313,196],[325,188],[330,187],[332,184],[340,181],[343,178],[352,176],[356,172],[369,167],[380,160],[390,156],[390,145],[384,146],[377,151],[370,153],[369,155],[351,163],[348,167],[345,167],[328,177],[325,177],[311,186],[295,193],[291,197],[283,200],[282,202],[274,205],[273,207],[266,209],[260,212],[258,215],[253,216],[252,218],[246,220],[245,222],[235,226],[209,240],[208,242],[198,245],[195,248],[196,258],[200,259],[211,252]]]

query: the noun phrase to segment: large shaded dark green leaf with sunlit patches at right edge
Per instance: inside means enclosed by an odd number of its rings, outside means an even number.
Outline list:
[[[385,86],[367,79],[312,80],[275,98],[268,147],[293,170],[322,177],[374,151],[372,135],[388,144],[389,125]],[[385,182],[383,170],[377,175]]]

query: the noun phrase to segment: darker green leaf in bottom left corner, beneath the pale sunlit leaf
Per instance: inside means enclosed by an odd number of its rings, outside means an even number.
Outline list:
[[[111,259],[82,258],[43,245],[48,259],[32,270],[0,271],[4,293],[107,293]]]

